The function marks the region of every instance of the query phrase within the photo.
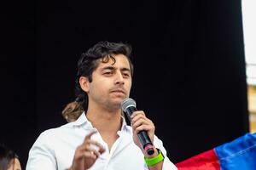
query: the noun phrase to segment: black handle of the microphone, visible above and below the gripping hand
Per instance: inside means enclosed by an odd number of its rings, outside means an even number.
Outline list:
[[[131,115],[134,111],[137,111],[137,109],[133,106],[130,106],[126,109],[125,113],[131,122]],[[151,156],[154,154],[154,148],[151,140],[148,137],[148,133],[146,131],[140,131],[137,133],[138,139],[140,140],[141,144],[143,144],[143,149],[147,151],[148,155]]]

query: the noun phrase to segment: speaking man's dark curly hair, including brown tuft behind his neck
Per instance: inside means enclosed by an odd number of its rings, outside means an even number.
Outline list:
[[[108,63],[109,59],[115,59],[113,54],[124,54],[130,64],[131,76],[133,75],[133,65],[131,63],[131,45],[123,42],[98,42],[92,48],[88,49],[86,53],[81,54],[78,62],[78,72],[76,77],[75,96],[76,99],[72,103],[67,104],[62,111],[62,116],[67,122],[73,122],[82,114],[83,111],[87,111],[88,96],[82,90],[79,84],[80,77],[87,77],[89,82],[92,82],[92,72],[96,70],[99,65],[98,59],[102,59],[103,63]]]

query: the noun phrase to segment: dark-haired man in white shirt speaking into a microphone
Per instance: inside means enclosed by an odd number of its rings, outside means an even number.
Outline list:
[[[125,123],[121,103],[129,97],[133,66],[124,43],[98,42],[79,59],[77,99],[63,116],[69,123],[38,137],[29,153],[27,170],[172,170],[154,124],[143,111]],[[154,154],[143,150],[137,133],[145,130]]]

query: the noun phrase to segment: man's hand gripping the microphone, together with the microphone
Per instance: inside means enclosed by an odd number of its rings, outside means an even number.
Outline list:
[[[125,112],[131,127],[133,128],[133,140],[148,156],[154,154],[154,123],[150,121],[143,111],[137,111],[136,102],[127,98],[122,102],[122,110]]]

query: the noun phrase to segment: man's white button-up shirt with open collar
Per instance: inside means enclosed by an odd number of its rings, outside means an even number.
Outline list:
[[[97,158],[90,170],[148,169],[143,152],[133,142],[131,126],[123,122],[118,132],[119,138],[110,151],[100,133],[91,136],[91,139],[102,144],[106,151]],[[71,167],[76,148],[84,142],[85,136],[92,130],[96,131],[96,128],[92,127],[83,113],[76,122],[44,131],[29,151],[26,170],[64,170]],[[154,146],[159,148],[165,156],[163,170],[177,169],[166,156],[166,150],[156,136],[154,136]]]

